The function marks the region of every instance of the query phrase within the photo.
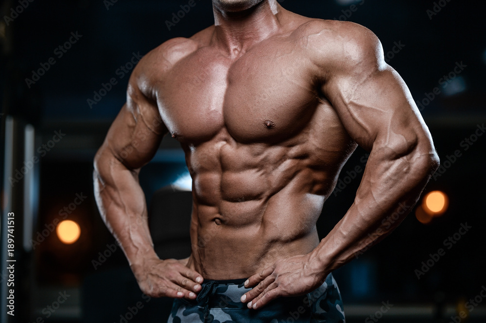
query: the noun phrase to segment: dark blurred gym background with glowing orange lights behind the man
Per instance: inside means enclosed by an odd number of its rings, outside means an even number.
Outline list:
[[[375,32],[441,158],[401,226],[334,274],[347,322],[486,322],[485,5],[279,2],[304,16],[349,20]],[[188,3],[1,2],[1,322],[165,322],[171,300],[142,295],[99,216],[92,160],[140,55],[213,23],[209,0]],[[321,238],[351,205],[366,159],[358,148],[345,165],[317,223]],[[190,178],[177,142],[164,138],[140,183],[159,256],[187,257]],[[15,316],[7,313],[9,281]]]

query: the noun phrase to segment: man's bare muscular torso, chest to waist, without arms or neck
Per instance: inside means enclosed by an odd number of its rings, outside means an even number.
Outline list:
[[[324,200],[356,147],[319,91],[302,23],[234,54],[212,46],[208,28],[174,45],[152,85],[186,153],[189,265],[206,278],[248,277],[312,251]]]

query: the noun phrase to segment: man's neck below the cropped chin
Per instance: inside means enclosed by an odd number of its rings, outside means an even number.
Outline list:
[[[277,32],[280,27],[282,7],[277,0],[254,0],[246,3],[245,7],[243,4],[225,5],[213,0],[216,26],[213,40],[226,48],[231,56],[243,53],[247,48]]]

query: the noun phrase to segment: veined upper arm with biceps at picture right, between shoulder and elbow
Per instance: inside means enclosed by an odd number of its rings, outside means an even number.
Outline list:
[[[367,76],[343,78],[327,90],[349,135],[367,150],[385,146],[406,154],[426,135],[410,91],[389,66]]]

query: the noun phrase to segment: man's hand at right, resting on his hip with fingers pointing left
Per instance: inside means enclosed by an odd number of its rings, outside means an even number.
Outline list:
[[[282,296],[304,295],[315,290],[326,276],[311,264],[310,255],[300,255],[277,260],[245,281],[245,287],[255,286],[242,297],[248,308],[260,308]],[[258,284],[258,285],[257,285]]]

